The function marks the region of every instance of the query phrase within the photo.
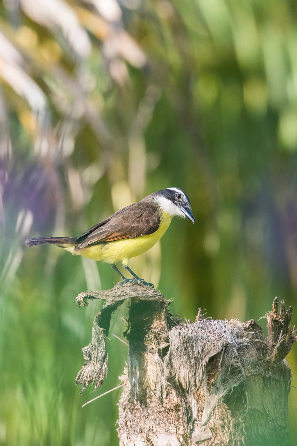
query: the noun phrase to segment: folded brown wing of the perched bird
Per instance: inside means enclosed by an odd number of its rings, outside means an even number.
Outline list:
[[[90,231],[93,228],[78,237],[77,248],[153,234],[157,231],[159,223],[160,215],[157,206],[138,202],[115,212],[102,224],[95,225],[92,232]],[[86,236],[83,237],[84,235]]]

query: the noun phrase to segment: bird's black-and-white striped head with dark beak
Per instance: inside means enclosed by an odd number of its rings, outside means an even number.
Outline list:
[[[154,195],[153,200],[171,217],[174,215],[182,218],[187,217],[195,223],[189,197],[179,187],[168,187],[168,189],[159,190],[152,195]]]

